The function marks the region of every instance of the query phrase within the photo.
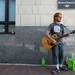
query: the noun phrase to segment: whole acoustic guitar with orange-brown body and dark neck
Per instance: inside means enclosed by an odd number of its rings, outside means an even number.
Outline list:
[[[57,45],[58,44],[58,41],[61,40],[63,37],[67,37],[69,34],[73,34],[73,33],[75,33],[75,30],[71,31],[70,33],[64,34],[61,37],[58,37],[56,34],[51,35],[50,37],[53,38],[53,39],[55,39],[57,41],[56,44],[54,44],[53,41],[48,36],[45,35],[42,38],[42,47],[45,50],[49,50],[52,47],[54,47],[55,45]]]

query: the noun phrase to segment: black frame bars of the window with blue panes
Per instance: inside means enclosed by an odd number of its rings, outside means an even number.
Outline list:
[[[15,21],[9,21],[9,0],[5,0],[5,21],[0,21],[0,25],[4,25],[4,32],[0,32],[0,34],[15,34],[9,32],[9,25],[15,26]]]

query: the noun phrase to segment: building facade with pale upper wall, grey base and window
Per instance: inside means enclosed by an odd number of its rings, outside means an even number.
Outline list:
[[[39,64],[45,56],[47,64],[52,64],[51,51],[45,53],[41,39],[53,21],[53,14],[62,12],[62,23],[70,30],[75,29],[75,9],[59,9],[57,2],[0,0],[0,63]],[[75,35],[63,40],[65,55],[74,53]]]

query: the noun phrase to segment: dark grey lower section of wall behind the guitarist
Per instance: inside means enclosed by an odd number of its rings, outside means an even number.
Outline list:
[[[0,63],[39,64],[45,56],[47,64],[52,64],[51,51],[46,54],[40,45],[46,29],[46,26],[18,26],[15,35],[0,35]],[[66,56],[75,53],[75,34],[64,38],[64,53]]]

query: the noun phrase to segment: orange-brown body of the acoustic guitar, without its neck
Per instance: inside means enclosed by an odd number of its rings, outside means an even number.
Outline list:
[[[54,34],[54,35],[51,36],[51,38],[56,40],[57,39],[57,35]],[[44,49],[48,50],[48,49],[51,49],[52,47],[54,47],[55,44],[53,44],[53,41],[49,37],[44,36],[42,38],[42,46],[43,46]]]

